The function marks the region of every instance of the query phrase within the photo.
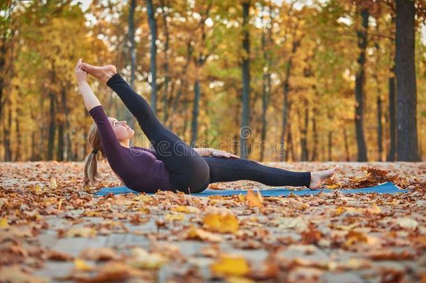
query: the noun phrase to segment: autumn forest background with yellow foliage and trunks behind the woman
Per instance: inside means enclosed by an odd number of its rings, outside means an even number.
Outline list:
[[[259,161],[420,161],[426,3],[1,1],[0,158],[82,161],[74,66],[115,64],[193,147]],[[108,115],[147,138],[118,96]]]

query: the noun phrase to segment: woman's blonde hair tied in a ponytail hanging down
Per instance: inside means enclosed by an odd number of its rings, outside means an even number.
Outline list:
[[[87,142],[92,148],[92,151],[85,158],[85,182],[84,187],[89,186],[89,184],[94,184],[96,178],[98,177],[98,161],[96,159],[96,152],[101,152],[102,157],[105,158],[105,152],[103,152],[101,135],[98,131],[98,126],[96,123],[91,124],[89,129],[89,135],[87,136]]]

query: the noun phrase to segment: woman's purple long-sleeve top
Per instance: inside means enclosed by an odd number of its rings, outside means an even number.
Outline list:
[[[102,106],[91,108],[89,114],[101,135],[103,151],[112,170],[126,187],[135,191],[172,190],[170,172],[155,150],[120,145]]]

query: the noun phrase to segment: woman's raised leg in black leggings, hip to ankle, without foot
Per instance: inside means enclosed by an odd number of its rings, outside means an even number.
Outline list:
[[[138,120],[140,128],[152,143],[159,159],[170,170],[172,185],[184,192],[205,189],[209,183],[209,166],[203,157],[163,126],[149,103],[137,94],[121,75],[118,73],[113,75],[107,85],[118,94]]]

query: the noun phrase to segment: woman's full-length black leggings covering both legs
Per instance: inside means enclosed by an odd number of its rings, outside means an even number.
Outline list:
[[[205,190],[210,183],[253,180],[270,186],[306,186],[310,172],[292,172],[264,166],[248,159],[201,157],[156,118],[149,103],[137,94],[118,73],[108,80],[124,105],[135,116],[140,128],[152,143],[159,159],[170,171],[170,182],[185,193]]]

